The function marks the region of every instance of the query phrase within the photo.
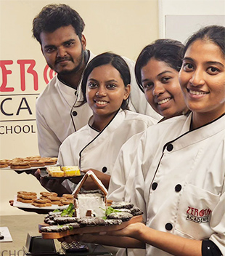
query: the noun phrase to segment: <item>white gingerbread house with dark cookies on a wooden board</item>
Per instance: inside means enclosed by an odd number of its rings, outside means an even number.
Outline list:
[[[98,185],[96,191],[82,191],[87,177]],[[69,197],[65,194],[62,197]],[[94,175],[86,172],[83,179],[73,191],[74,204],[66,209],[56,209],[44,217],[44,224],[39,231],[44,239],[59,239],[75,233],[98,233],[125,228],[126,225],[142,222],[143,212],[128,202],[112,202],[107,206],[107,189]]]

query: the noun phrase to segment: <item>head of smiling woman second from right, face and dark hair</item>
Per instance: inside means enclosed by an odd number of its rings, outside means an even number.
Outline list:
[[[164,119],[187,113],[179,84],[184,45],[171,39],[159,39],[142,49],[136,60],[137,84],[147,102]]]

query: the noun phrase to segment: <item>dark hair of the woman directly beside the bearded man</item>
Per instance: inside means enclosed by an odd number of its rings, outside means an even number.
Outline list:
[[[125,87],[127,87],[128,84],[131,84],[131,73],[129,71],[128,65],[126,64],[126,61],[123,60],[123,57],[121,57],[120,55],[116,55],[112,52],[104,52],[101,55],[97,55],[96,57],[94,57],[94,59],[92,59],[86,66],[81,82],[81,90],[83,94],[83,102],[81,103],[81,105],[86,103],[86,83],[88,81],[90,73],[94,70],[94,68],[107,64],[113,65],[113,67],[119,71]],[[128,109],[128,99],[123,100],[123,103],[121,105],[121,108],[123,110]]]

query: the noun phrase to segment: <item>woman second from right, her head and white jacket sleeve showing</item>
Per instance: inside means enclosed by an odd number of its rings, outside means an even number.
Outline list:
[[[161,121],[189,113],[179,84],[183,51],[184,44],[180,41],[158,39],[144,47],[136,60],[137,84],[147,102],[163,116]],[[131,164],[141,136],[141,133],[134,135],[121,148],[111,175],[108,199],[130,200],[135,175]]]

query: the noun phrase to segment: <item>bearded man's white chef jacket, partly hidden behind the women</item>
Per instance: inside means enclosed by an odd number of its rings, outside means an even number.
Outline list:
[[[89,61],[94,56],[90,52]],[[123,59],[126,60],[131,72],[131,95],[128,105],[130,110],[160,120],[161,116],[147,103],[144,93],[136,84],[134,61],[126,57]],[[65,138],[88,123],[92,111],[87,103],[77,107],[82,100],[81,83],[75,90],[63,84],[57,76],[54,76],[44,92],[39,95],[36,101],[36,122],[41,156],[57,157]]]

